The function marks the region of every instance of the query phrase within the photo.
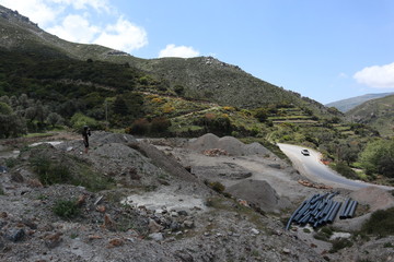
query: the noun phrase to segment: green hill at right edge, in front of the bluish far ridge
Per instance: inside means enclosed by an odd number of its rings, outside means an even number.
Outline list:
[[[346,112],[349,121],[369,124],[383,136],[394,135],[394,95],[368,100]]]

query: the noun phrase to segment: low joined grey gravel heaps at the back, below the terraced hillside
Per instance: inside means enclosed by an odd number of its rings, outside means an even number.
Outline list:
[[[212,148],[220,148],[225,151],[229,155],[265,155],[270,152],[259,143],[244,144],[233,136],[218,138],[212,133],[207,133],[197,140],[189,143],[190,150],[204,152]]]

